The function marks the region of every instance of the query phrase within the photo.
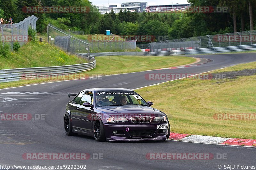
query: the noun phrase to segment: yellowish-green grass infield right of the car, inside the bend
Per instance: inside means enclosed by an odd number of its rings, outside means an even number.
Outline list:
[[[256,68],[256,62],[223,71]],[[136,90],[169,118],[171,131],[256,139],[256,120],[216,120],[218,113],[256,113],[256,75],[226,80],[176,80]]]

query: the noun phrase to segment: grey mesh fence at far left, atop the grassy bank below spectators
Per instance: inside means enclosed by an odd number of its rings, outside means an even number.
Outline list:
[[[28,42],[28,27],[31,26],[32,29],[36,30],[37,19],[36,16],[32,15],[19,23],[0,25],[1,41],[11,43],[11,46],[13,42],[19,42],[20,45]]]

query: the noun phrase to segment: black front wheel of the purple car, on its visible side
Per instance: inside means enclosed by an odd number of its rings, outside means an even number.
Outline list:
[[[96,141],[105,141],[106,136],[104,132],[103,123],[100,117],[96,117],[93,122],[93,136]]]

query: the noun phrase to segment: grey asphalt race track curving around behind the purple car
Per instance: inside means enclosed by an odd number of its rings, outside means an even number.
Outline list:
[[[86,165],[86,169],[218,169],[218,165],[254,165],[252,147],[208,145],[179,141],[96,142],[94,138],[66,136],[63,115],[70,100],[67,92],[86,88],[119,87],[135,89],[163,81],[146,80],[147,73],[202,73],[239,63],[256,61],[256,53],[198,55],[210,63],[180,69],[155,70],[103,76],[100,80],[73,80],[0,90],[1,113],[28,113],[28,121],[0,122],[1,165]],[[111,63],[110,63],[111,64]],[[19,93],[17,93],[19,92]],[[170,92],[171,93],[171,92]],[[152,101],[154,102],[154,101]],[[153,105],[157,108],[157,106]],[[45,114],[45,120],[33,120]],[[172,127],[172,125],[171,125]],[[171,128],[172,129],[172,128]],[[89,153],[87,160],[29,160],[24,153]],[[103,159],[97,154],[103,153]],[[210,160],[151,160],[147,153],[211,153]],[[216,155],[226,155],[217,159]]]

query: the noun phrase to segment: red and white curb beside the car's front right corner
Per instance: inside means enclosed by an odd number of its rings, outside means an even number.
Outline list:
[[[220,138],[220,137],[214,137],[214,136],[190,135],[190,134],[181,134],[181,133],[171,133],[169,139],[180,140],[185,142],[205,143],[205,144],[239,145],[239,146],[256,147],[256,139]]]

